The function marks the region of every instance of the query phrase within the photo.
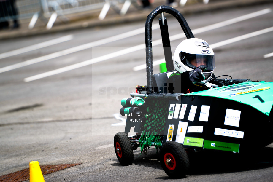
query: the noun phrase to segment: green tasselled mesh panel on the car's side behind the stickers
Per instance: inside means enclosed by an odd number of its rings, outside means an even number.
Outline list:
[[[161,146],[166,113],[168,112],[168,101],[164,99],[147,98],[145,105],[147,106],[147,115],[145,116],[146,123],[139,138],[141,153],[143,148],[152,146],[152,142],[156,143],[155,148]]]

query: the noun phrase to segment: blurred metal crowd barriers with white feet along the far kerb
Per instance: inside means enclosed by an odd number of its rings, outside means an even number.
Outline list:
[[[0,0],[0,28],[4,23],[17,20],[30,19],[28,28],[32,29],[39,17],[42,17],[50,29],[57,16],[66,20],[65,15],[101,9],[99,19],[103,20],[112,7],[121,16],[125,15],[131,4],[139,7],[137,0]],[[207,4],[209,0],[199,0]],[[179,5],[184,6],[187,0],[180,0]],[[16,28],[16,27],[15,27]]]

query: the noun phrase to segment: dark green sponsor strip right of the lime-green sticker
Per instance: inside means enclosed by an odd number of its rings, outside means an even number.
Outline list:
[[[231,151],[231,152],[239,153],[239,147],[240,147],[240,144],[236,144],[236,143],[226,143],[226,142],[204,140],[205,149],[215,149],[215,150],[223,150],[223,151]]]

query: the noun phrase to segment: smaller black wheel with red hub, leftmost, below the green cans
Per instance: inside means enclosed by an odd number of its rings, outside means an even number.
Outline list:
[[[114,137],[115,153],[121,165],[130,165],[134,160],[133,148],[131,147],[128,135],[118,132]]]

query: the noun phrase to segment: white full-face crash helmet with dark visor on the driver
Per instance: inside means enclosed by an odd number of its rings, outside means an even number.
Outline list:
[[[197,38],[183,40],[174,52],[174,68],[183,73],[200,66],[207,68],[203,73],[205,81],[211,79],[214,67],[214,52],[209,44]]]

